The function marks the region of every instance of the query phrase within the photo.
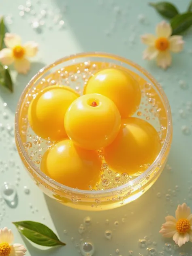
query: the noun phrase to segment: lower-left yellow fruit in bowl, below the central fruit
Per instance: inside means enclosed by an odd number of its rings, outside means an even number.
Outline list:
[[[82,190],[100,181],[100,167],[96,151],[81,149],[69,139],[48,149],[41,162],[41,171],[51,179]]]

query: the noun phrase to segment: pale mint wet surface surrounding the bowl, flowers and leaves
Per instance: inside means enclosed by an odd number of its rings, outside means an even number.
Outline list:
[[[154,0],[155,1],[155,0]],[[19,5],[26,5],[24,0],[0,0],[0,14],[13,15],[12,24],[8,24],[10,32],[20,34],[23,42],[34,40],[39,43],[39,53],[32,62],[32,68],[27,76],[15,76],[15,92],[10,94],[0,88],[0,123],[10,124],[13,128],[15,106],[19,96],[38,69],[45,64],[65,55],[82,51],[106,51],[119,54],[137,62],[160,81],[169,98],[173,111],[173,144],[169,157],[169,166],[164,169],[156,184],[137,201],[119,209],[104,212],[85,212],[69,209],[47,198],[34,185],[24,170],[17,151],[13,148],[13,131],[0,131],[0,186],[4,181],[15,184],[18,195],[18,206],[10,208],[0,202],[0,227],[7,226],[13,229],[15,242],[24,243],[27,247],[27,256],[77,256],[79,255],[79,239],[89,237],[95,245],[95,256],[119,255],[128,256],[132,250],[134,256],[147,255],[146,248],[138,245],[138,240],[148,236],[157,245],[148,245],[161,252],[165,243],[172,243],[171,239],[163,239],[158,233],[164,216],[174,214],[178,203],[187,202],[192,207],[192,30],[184,36],[185,49],[183,53],[173,56],[173,64],[167,71],[161,70],[155,62],[148,63],[142,60],[142,51],[145,49],[140,41],[140,35],[154,32],[155,26],[162,18],[148,6],[147,0],[32,0],[32,7],[37,13],[41,9],[60,9],[63,13],[65,29],[52,22],[47,17],[41,31],[31,28],[29,23],[32,16],[19,16]],[[173,2],[173,0],[172,0]],[[174,0],[179,10],[184,11],[189,0]],[[46,5],[46,6],[44,6]],[[118,13],[119,10],[119,13]],[[141,21],[144,17],[144,21]],[[52,25],[53,28],[48,27]],[[181,88],[179,81],[186,82],[186,88]],[[7,107],[3,107],[3,103]],[[3,113],[8,113],[8,119]],[[187,127],[187,135],[182,132],[182,126]],[[189,130],[188,130],[189,129]],[[12,134],[12,135],[10,135]],[[10,160],[15,162],[12,163]],[[14,164],[14,166],[13,166]],[[171,169],[171,170],[169,170]],[[20,174],[18,174],[18,170]],[[20,179],[20,180],[19,180]],[[30,188],[30,194],[24,193],[24,186]],[[175,186],[179,190],[174,192]],[[157,194],[160,193],[160,198]],[[176,194],[175,194],[176,193]],[[168,195],[167,195],[168,194]],[[170,195],[170,196],[169,196]],[[168,200],[167,200],[168,199]],[[32,207],[32,208],[31,208]],[[79,225],[83,218],[90,216],[92,225],[82,235],[79,234]],[[125,222],[122,222],[125,218]],[[105,220],[109,219],[109,224]],[[23,239],[12,221],[34,220],[43,222],[52,228],[66,242],[66,247],[46,249],[38,247]],[[119,221],[119,226],[114,222]],[[63,230],[67,230],[65,235]],[[105,230],[110,229],[113,237],[107,240]],[[71,241],[74,237],[74,241]],[[192,244],[188,243],[177,252],[164,252],[165,255],[186,252],[192,255]],[[158,255],[158,253],[157,253]]]

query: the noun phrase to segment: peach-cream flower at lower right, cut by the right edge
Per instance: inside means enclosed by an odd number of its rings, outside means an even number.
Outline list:
[[[163,237],[173,237],[173,241],[181,247],[186,242],[192,242],[192,214],[191,209],[183,203],[178,205],[175,217],[165,217],[160,233]]]

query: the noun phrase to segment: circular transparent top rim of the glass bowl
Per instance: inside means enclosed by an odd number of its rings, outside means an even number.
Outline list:
[[[121,185],[119,187],[116,188],[110,188],[110,189],[104,189],[104,190],[80,190],[80,189],[75,189],[75,188],[71,188],[68,186],[65,186],[57,181],[54,181],[52,179],[50,179],[50,177],[48,177],[47,175],[45,175],[29,158],[28,153],[25,150],[25,147],[21,141],[21,136],[19,133],[19,115],[20,115],[20,107],[22,105],[22,101],[25,98],[28,90],[32,87],[32,84],[36,81],[36,79],[38,79],[39,77],[41,77],[43,72],[48,71],[49,69],[53,68],[54,66],[57,66],[58,64],[61,64],[62,62],[66,62],[69,60],[73,60],[73,59],[77,59],[77,58],[85,58],[85,57],[102,57],[102,58],[110,58],[110,59],[115,59],[118,60],[120,62],[124,62],[128,65],[133,66],[134,68],[136,68],[137,70],[139,70],[139,72],[142,72],[143,75],[145,75],[147,78],[149,78],[151,80],[152,83],[155,84],[155,86],[158,88],[162,99],[164,101],[165,104],[165,109],[166,109],[166,113],[167,113],[167,132],[166,132],[166,138],[164,140],[162,149],[160,151],[160,153],[158,154],[156,160],[151,164],[151,166],[149,166],[149,168],[147,168],[147,170],[145,170],[141,175],[139,175],[138,177],[136,177],[133,181],[127,182],[124,185]],[[32,168],[32,170],[34,171],[34,173],[36,173],[38,176],[40,176],[41,178],[45,179],[48,183],[51,183],[53,186],[56,186],[57,188],[61,189],[61,190],[67,190],[68,192],[72,192],[72,193],[77,193],[77,194],[84,194],[84,195],[97,195],[97,196],[110,196],[112,195],[112,193],[114,192],[118,192],[120,190],[127,190],[129,187],[130,188],[134,188],[134,186],[138,183],[140,183],[139,181],[141,181],[143,178],[147,177],[147,175],[151,172],[151,170],[154,168],[154,166],[156,166],[158,164],[158,162],[162,159],[168,145],[169,145],[169,141],[171,139],[171,132],[172,132],[172,123],[171,123],[171,108],[169,105],[169,101],[168,98],[166,97],[166,94],[164,92],[164,90],[162,89],[162,87],[160,86],[160,84],[156,81],[156,79],[154,79],[151,74],[145,70],[144,68],[142,68],[141,66],[139,66],[138,64],[135,64],[134,62],[132,62],[131,60],[128,60],[124,57],[120,57],[119,55],[115,55],[115,54],[111,54],[111,53],[105,53],[105,52],[83,52],[83,53],[77,53],[77,54],[73,54],[73,55],[68,55],[64,58],[60,58],[58,60],[56,60],[55,62],[45,66],[44,68],[41,68],[38,73],[36,73],[36,75],[34,75],[34,77],[32,77],[32,79],[29,81],[29,83],[26,85],[25,89],[23,90],[20,98],[19,98],[19,102],[17,103],[17,109],[16,109],[16,113],[15,113],[15,134],[16,134],[16,140],[17,143],[19,145],[19,149],[21,151],[21,154],[23,154],[23,157],[25,158],[26,162],[28,163],[28,165]],[[150,181],[150,179],[149,179]],[[148,181],[148,182],[149,182]]]

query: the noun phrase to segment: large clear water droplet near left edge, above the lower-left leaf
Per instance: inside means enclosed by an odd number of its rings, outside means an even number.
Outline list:
[[[15,208],[17,206],[18,198],[15,186],[4,182],[4,185],[1,188],[1,194],[9,207]]]

